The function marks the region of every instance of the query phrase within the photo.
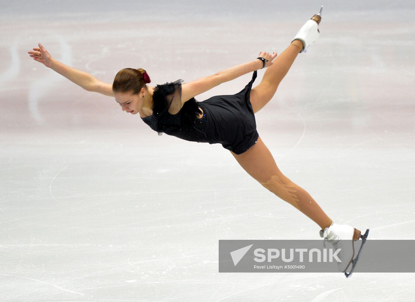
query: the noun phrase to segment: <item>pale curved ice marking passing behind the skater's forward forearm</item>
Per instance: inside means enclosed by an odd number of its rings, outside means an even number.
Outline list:
[[[65,65],[72,65],[71,46],[65,39],[56,37],[61,46],[61,58],[59,59]],[[38,62],[38,64],[41,64]],[[56,75],[55,71],[50,70],[45,76],[34,80],[30,84],[29,91],[27,93],[27,102],[29,106],[29,112],[32,118],[39,124],[44,123],[44,119],[39,113],[39,100],[46,95],[51,89],[56,89],[56,82],[63,80],[63,77]]]

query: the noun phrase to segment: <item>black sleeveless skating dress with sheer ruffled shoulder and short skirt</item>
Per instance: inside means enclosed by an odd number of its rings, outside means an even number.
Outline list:
[[[156,85],[153,93],[153,114],[142,117],[159,135],[166,133],[186,141],[222,144],[235,154],[242,154],[258,140],[254,110],[249,94],[256,79],[239,93],[216,95],[203,102],[191,98],[181,107],[182,79]],[[199,108],[200,107],[200,108]],[[198,114],[203,117],[198,119]]]

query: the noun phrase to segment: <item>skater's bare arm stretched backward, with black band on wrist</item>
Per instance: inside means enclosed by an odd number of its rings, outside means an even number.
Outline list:
[[[272,55],[269,53],[266,53],[265,51],[261,51],[259,53],[259,57],[262,57],[268,60],[264,68],[271,66],[272,61],[274,58],[276,58],[276,56],[277,56],[276,52],[274,52]],[[192,97],[195,97],[196,95],[200,95],[201,93],[204,93],[205,91],[216,87],[217,85],[221,83],[225,83],[227,81],[243,76],[246,73],[250,73],[258,69],[261,69],[262,66],[263,66],[262,61],[259,59],[255,59],[254,61],[240,64],[240,65],[219,71],[218,73],[215,73],[214,75],[207,76],[204,78],[199,78],[197,80],[194,80],[188,83],[183,83],[181,85],[182,103],[190,100]]]

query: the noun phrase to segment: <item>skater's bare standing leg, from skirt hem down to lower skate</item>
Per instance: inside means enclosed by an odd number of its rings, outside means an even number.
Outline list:
[[[310,194],[281,173],[261,137],[248,151],[239,155],[231,153],[242,168],[265,188],[299,209],[323,230],[330,227],[332,220]]]

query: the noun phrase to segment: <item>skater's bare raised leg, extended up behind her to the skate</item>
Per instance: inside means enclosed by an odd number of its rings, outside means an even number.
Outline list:
[[[274,96],[278,85],[290,70],[302,47],[303,42],[293,41],[282,54],[275,58],[273,64],[266,68],[261,83],[251,89],[250,100],[254,113],[261,110]]]

